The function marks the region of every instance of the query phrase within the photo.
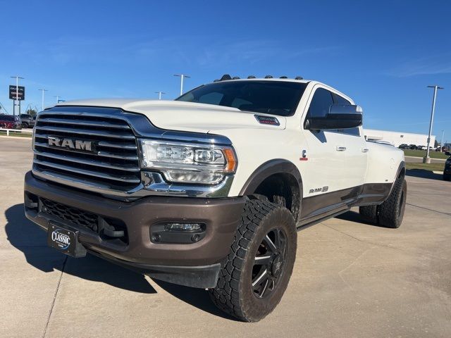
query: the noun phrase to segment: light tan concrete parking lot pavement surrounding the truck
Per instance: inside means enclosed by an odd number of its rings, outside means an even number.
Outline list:
[[[30,139],[0,137],[2,337],[451,337],[451,182],[409,173],[398,230],[354,211],[298,232],[295,270],[259,323],[202,289],[68,258],[23,215]]]

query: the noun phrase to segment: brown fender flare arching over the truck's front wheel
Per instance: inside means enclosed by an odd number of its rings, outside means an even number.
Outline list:
[[[254,172],[249,176],[245,184],[240,190],[239,196],[246,196],[254,194],[255,190],[259,185],[264,182],[268,177],[274,174],[288,174],[295,178],[297,186],[299,187],[299,205],[296,206],[295,210],[297,215],[295,220],[299,218],[302,204],[302,177],[301,173],[297,169],[296,165],[288,160],[282,158],[277,158],[274,160],[267,161],[260,165]]]

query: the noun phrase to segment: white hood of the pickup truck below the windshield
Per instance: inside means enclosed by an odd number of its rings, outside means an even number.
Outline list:
[[[286,118],[261,114],[277,118],[280,125],[259,123],[254,112],[240,111],[237,108],[196,104],[183,101],[159,101],[136,99],[95,99],[66,101],[57,106],[98,106],[121,108],[124,111],[146,115],[153,125],[166,130],[202,132],[214,134],[218,130],[237,128],[285,129]]]

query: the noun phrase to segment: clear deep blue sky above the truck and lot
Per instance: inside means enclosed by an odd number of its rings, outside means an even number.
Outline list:
[[[321,4],[320,4],[321,3]],[[364,127],[451,142],[450,1],[0,1],[0,102],[173,99],[224,73],[320,80],[364,108]],[[15,13],[18,14],[14,15]]]

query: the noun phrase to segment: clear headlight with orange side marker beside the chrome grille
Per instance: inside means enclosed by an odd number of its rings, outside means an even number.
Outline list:
[[[140,139],[142,168],[159,170],[169,182],[216,184],[235,173],[237,159],[230,146],[184,144]]]

